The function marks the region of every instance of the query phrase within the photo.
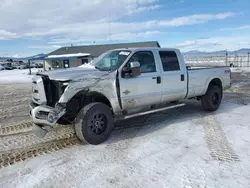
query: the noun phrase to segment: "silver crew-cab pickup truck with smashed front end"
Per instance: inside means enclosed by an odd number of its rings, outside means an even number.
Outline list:
[[[187,67],[178,49],[115,49],[87,65],[37,74],[30,114],[40,137],[72,123],[80,140],[100,144],[116,120],[179,107],[182,99],[215,111],[230,85],[229,67]]]

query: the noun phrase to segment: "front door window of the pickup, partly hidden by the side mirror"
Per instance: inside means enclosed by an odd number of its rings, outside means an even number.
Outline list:
[[[139,62],[141,73],[156,72],[154,54],[151,51],[140,51],[134,53],[127,65],[129,65],[130,62]]]

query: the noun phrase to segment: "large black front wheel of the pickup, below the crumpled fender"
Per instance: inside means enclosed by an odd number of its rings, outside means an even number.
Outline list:
[[[114,118],[111,109],[100,102],[84,106],[75,119],[77,137],[82,142],[86,141],[93,145],[106,141],[113,127]]]

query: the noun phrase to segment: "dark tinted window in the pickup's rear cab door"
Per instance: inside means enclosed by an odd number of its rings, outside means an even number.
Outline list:
[[[160,51],[161,63],[164,71],[178,71],[180,70],[177,55],[173,51]]]

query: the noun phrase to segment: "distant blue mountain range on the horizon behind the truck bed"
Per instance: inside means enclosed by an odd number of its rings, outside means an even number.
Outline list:
[[[242,49],[237,50],[237,51],[220,50],[220,51],[214,51],[214,52],[202,52],[199,50],[192,50],[192,51],[184,52],[183,54],[185,56],[208,56],[208,55],[225,55],[226,53],[228,53],[229,55],[234,55],[235,53],[246,55],[247,53],[250,53],[250,49],[242,48]]]

